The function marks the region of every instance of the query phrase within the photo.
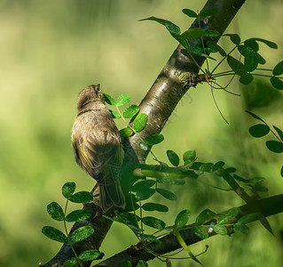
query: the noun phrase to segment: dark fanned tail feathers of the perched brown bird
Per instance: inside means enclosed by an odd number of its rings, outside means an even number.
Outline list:
[[[99,204],[104,212],[111,206],[121,206],[122,208],[126,206],[119,180],[108,184],[99,184]]]

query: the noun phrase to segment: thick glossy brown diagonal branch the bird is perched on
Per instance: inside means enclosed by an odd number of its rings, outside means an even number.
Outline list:
[[[245,0],[208,0],[204,8],[216,7],[218,12],[214,16],[204,18],[201,21],[201,27],[216,29],[220,35],[222,35],[244,2]],[[191,28],[198,27],[198,25],[198,20],[195,20],[193,21]],[[219,36],[213,38],[214,41],[217,41],[218,39]],[[200,44],[200,41],[194,39],[190,40],[189,43],[191,47],[193,47],[196,44]],[[204,58],[198,56],[195,57],[195,60],[199,66],[204,62]],[[180,79],[175,75],[176,71],[191,72],[195,74],[199,72],[198,67],[196,67],[192,58],[182,45],[177,46],[177,49],[161,70],[161,73],[153,83],[153,86],[140,103],[140,112],[145,112],[148,116],[145,129],[139,133],[144,140],[146,140],[149,135],[161,132],[168,121],[169,116],[176,108],[177,103],[189,89],[188,87],[184,88],[181,84]],[[137,134],[123,142],[125,158],[122,167],[122,186],[125,191],[127,191],[129,180],[135,165],[138,162],[145,162],[145,158],[148,154],[148,150],[145,151],[140,149],[139,142]],[[111,227],[111,222],[102,217],[103,213],[98,208],[97,204],[88,204],[88,206],[84,206],[84,208],[91,209],[93,211],[93,217],[90,220],[75,223],[72,231],[75,231],[75,229],[78,229],[83,225],[91,225],[95,229],[95,232],[90,239],[75,244],[75,250],[78,251],[78,253],[86,249],[86,247],[88,249],[100,247],[103,239],[106,237],[107,231]],[[113,211],[107,213],[107,215],[111,214],[113,214]],[[59,250],[59,253],[51,259],[49,263],[46,263],[43,266],[63,266],[63,262],[70,259],[72,256],[73,253],[70,247],[64,245]],[[90,266],[90,263],[84,263],[83,266]]]

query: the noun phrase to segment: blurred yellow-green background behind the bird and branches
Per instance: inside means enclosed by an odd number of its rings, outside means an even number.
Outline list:
[[[46,206],[53,200],[64,204],[60,188],[65,182],[76,182],[78,190],[90,190],[94,183],[75,165],[71,149],[79,91],[100,83],[105,93],[114,97],[128,93],[132,103],[138,104],[177,46],[160,25],[138,20],[153,15],[185,30],[192,20],[182,9],[200,10],[205,2],[0,0],[0,266],[37,266],[49,261],[60,244],[46,239],[41,228],[61,225],[53,223]],[[263,37],[279,44],[276,51],[261,44],[261,53],[273,68],[283,58],[282,10],[280,0],[247,1],[227,33],[237,32],[243,39]],[[224,41],[221,44],[229,47]],[[224,160],[245,177],[265,177],[270,191],[263,197],[279,194],[283,190],[279,176],[282,156],[267,150],[263,139],[248,134],[248,126],[256,122],[244,109],[282,129],[282,93],[264,79],[255,79],[249,86],[239,85],[235,79],[231,90],[242,96],[216,92],[230,125],[217,112],[208,86],[197,86],[169,118],[162,132],[165,141],[154,152],[166,160],[166,150],[182,155],[195,149],[201,161]],[[226,186],[216,178],[202,179]],[[192,211],[193,220],[204,208],[222,212],[242,204],[232,192],[197,182],[185,185],[175,189],[178,202],[155,198],[170,208],[170,214],[156,214],[168,225],[185,208]],[[205,240],[192,246],[193,253],[197,255],[209,245],[208,252],[200,256],[205,266],[282,266],[282,214],[269,221],[275,236],[253,223],[249,235]],[[126,227],[114,223],[101,250],[106,256],[114,255],[136,242]],[[165,266],[158,260],[150,264]],[[196,266],[190,260],[173,264]]]

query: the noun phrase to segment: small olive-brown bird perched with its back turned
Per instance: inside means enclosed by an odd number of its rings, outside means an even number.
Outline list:
[[[106,212],[112,206],[124,208],[119,180],[122,140],[99,84],[85,87],[78,95],[72,146],[76,163],[98,182],[102,210]]]

